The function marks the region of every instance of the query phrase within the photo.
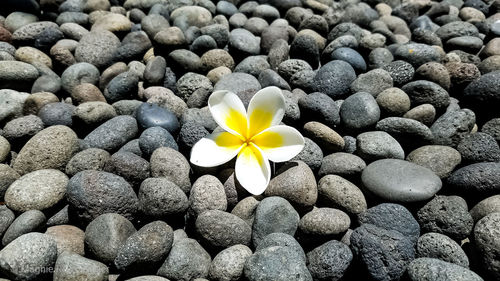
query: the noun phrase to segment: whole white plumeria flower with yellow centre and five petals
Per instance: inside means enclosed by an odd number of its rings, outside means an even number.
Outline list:
[[[299,131],[279,125],[285,115],[285,98],[277,87],[258,91],[248,112],[240,98],[229,91],[212,93],[208,107],[225,132],[214,132],[198,141],[191,151],[191,163],[214,167],[237,156],[236,178],[254,195],[263,193],[269,184],[269,160],[288,161],[304,148]]]

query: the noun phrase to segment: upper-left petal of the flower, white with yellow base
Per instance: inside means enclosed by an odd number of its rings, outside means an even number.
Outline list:
[[[240,98],[229,91],[213,92],[208,98],[208,108],[215,122],[224,130],[242,137],[246,136],[247,113]]]

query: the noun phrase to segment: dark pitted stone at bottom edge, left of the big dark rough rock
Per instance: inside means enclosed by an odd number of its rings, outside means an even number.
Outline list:
[[[352,259],[349,246],[331,240],[307,253],[307,268],[313,279],[339,280],[344,276]]]

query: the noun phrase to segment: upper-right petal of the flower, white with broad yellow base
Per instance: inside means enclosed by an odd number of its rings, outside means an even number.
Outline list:
[[[258,91],[248,105],[249,136],[278,125],[285,115],[285,97],[278,87]]]

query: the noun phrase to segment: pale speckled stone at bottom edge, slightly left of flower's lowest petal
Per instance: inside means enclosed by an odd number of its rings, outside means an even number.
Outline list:
[[[243,275],[245,261],[251,255],[252,250],[245,245],[222,250],[212,260],[208,277],[211,280],[237,280]]]

